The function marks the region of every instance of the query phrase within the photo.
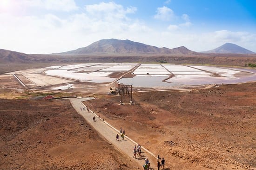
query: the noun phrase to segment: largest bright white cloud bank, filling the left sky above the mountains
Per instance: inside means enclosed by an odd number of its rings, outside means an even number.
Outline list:
[[[106,6],[108,8],[106,8]],[[105,8],[104,8],[105,6]],[[39,16],[0,13],[0,48],[25,53],[54,53],[74,50],[107,38],[141,41],[152,30],[138,19],[130,19],[135,7],[111,3],[86,6],[84,13],[63,18],[48,13]],[[101,13],[99,16],[96,16]],[[102,15],[105,15],[101,18]]]

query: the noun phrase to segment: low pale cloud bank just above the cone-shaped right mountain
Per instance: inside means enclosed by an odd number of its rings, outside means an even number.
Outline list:
[[[155,41],[154,38],[161,39],[161,41]],[[152,39],[153,40],[150,43],[155,46],[166,46],[168,48],[175,48],[184,45],[189,50],[199,52],[205,50],[212,50],[225,43],[234,43],[242,46],[243,48],[256,52],[256,34],[245,31],[240,32],[220,30],[205,33],[185,33],[179,29],[179,31],[175,32],[168,30],[162,32],[161,34],[153,34]]]

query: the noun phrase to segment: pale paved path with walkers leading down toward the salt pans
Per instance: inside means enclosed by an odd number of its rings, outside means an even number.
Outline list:
[[[113,126],[108,124],[108,122],[103,121],[103,119],[98,119],[98,116],[93,113],[92,110],[90,112],[85,109],[85,111],[81,111],[81,108],[85,107],[81,101],[88,101],[93,100],[94,97],[87,97],[87,98],[69,98],[72,106],[77,111],[77,113],[81,114],[84,119],[95,128],[97,132],[99,132],[106,140],[109,141],[110,145],[114,145],[119,151],[121,151],[123,154],[126,154],[130,159],[132,159],[140,169],[142,169],[143,164],[145,164],[145,158],[148,157],[149,162],[151,164],[151,170],[156,170],[156,161],[157,158],[152,154],[149,153],[149,151],[146,151],[145,148],[142,146],[142,153],[141,158],[133,158],[133,148],[134,145],[137,145],[138,143],[134,142],[132,139],[129,139],[127,136],[124,137],[125,140],[121,140],[121,134],[119,130],[115,129]],[[96,121],[93,121],[93,116],[96,117]],[[119,134],[119,141],[116,140],[116,134]]]

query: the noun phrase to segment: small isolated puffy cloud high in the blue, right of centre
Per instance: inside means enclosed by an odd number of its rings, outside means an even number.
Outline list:
[[[160,19],[164,21],[169,21],[175,17],[174,12],[172,9],[163,6],[163,7],[158,7],[156,10],[156,14],[154,16],[155,19]]]

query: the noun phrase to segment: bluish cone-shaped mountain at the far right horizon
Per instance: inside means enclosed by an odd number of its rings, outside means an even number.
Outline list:
[[[216,49],[209,50],[209,51],[203,51],[202,53],[255,54],[255,52],[252,52],[243,47],[240,47],[239,45],[232,44],[232,43],[226,43]]]

